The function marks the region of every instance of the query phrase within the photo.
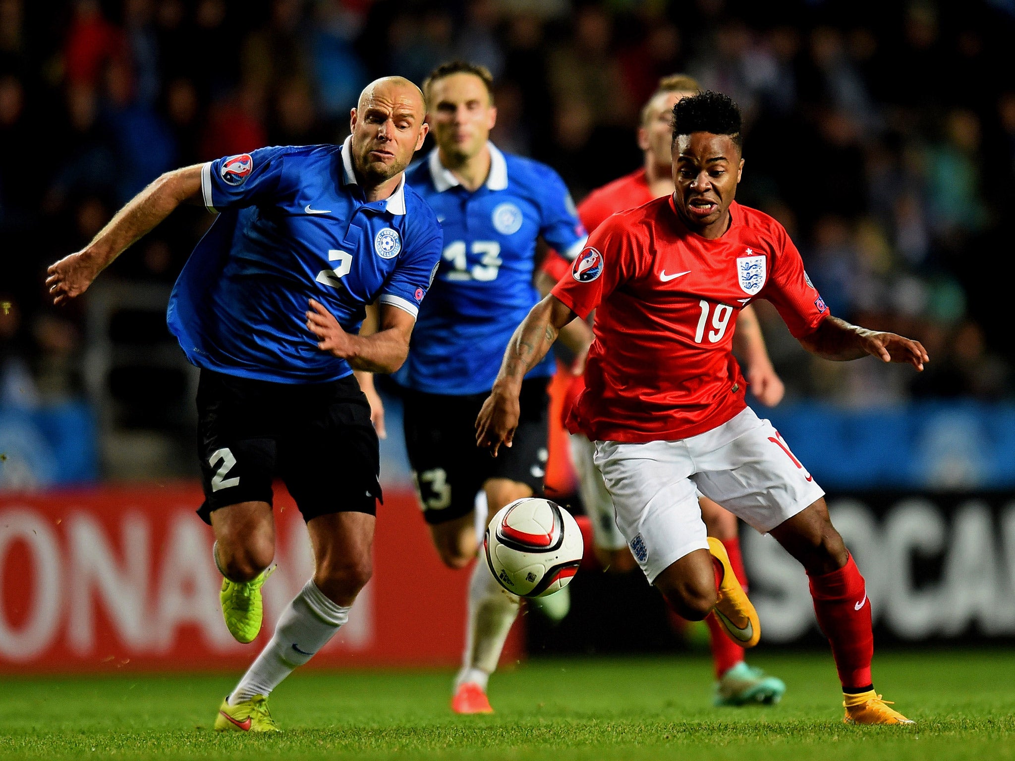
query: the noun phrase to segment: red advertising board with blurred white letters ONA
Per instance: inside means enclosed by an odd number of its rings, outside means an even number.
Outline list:
[[[302,518],[276,490],[278,568],[265,626],[235,642],[219,610],[212,535],[197,486],[0,495],[0,671],[242,669],[311,576]],[[387,494],[375,574],[314,666],[452,665],[465,637],[469,574],[445,568],[415,499]],[[517,636],[503,658],[517,659]]]

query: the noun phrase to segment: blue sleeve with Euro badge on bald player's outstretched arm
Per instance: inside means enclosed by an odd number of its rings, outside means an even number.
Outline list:
[[[256,206],[277,196],[284,148],[258,148],[216,158],[201,167],[201,195],[209,211]]]

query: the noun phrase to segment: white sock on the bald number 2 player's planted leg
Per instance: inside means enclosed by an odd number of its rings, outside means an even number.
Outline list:
[[[349,620],[351,608],[332,602],[312,578],[286,606],[275,634],[229,695],[229,705],[269,695],[292,670],[302,666]]]

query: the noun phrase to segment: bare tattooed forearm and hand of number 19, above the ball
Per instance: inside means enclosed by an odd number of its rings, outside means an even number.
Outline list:
[[[522,379],[546,356],[560,330],[578,315],[552,293],[537,303],[507,343],[500,372],[476,418],[476,444],[497,456],[500,444],[511,446],[518,428]]]

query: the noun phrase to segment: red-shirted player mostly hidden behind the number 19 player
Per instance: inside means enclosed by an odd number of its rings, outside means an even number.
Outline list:
[[[645,155],[644,165],[630,175],[593,191],[579,204],[579,217],[590,233],[611,214],[673,194],[673,160],[670,153],[670,144],[673,142],[673,107],[681,98],[700,92],[700,89],[693,78],[682,74],[660,80],[659,89],[641,109],[637,138]],[[562,257],[556,254],[547,256],[540,273],[540,290],[544,294],[548,293],[569,269],[570,262]],[[737,316],[733,347],[746,360],[747,380],[754,397],[768,407],[779,404],[785,387],[771,365],[761,335],[761,326],[749,304]],[[570,403],[584,388],[582,375],[576,375],[565,400],[564,419],[569,412]],[[634,559],[627,549],[627,542],[617,529],[613,501],[603,484],[603,477],[593,464],[592,442],[584,433],[572,433],[570,449],[579,476],[582,502],[592,526],[597,557],[603,567],[613,571],[632,570]],[[698,494],[698,503],[708,536],[716,537],[723,543],[737,578],[746,586],[747,573],[740,553],[736,516],[701,494]],[[705,623],[708,626],[716,671],[713,703],[748,705],[779,702],[786,692],[783,680],[748,666],[744,661],[744,648],[726,636],[723,625],[715,616],[707,616]]]

